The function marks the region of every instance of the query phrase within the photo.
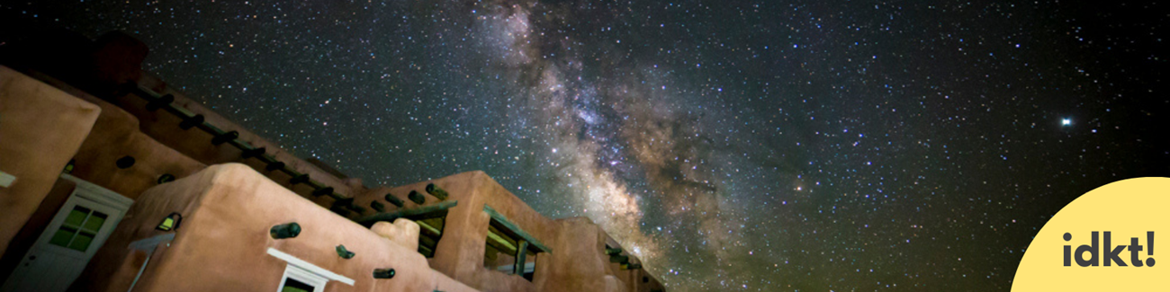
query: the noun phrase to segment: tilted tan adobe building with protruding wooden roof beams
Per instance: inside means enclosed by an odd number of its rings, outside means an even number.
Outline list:
[[[590,220],[483,172],[367,188],[144,72],[125,34],[18,39],[0,291],[663,291]]]

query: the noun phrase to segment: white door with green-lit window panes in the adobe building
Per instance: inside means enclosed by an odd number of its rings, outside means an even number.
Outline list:
[[[84,183],[77,185],[0,291],[66,291],[81,276],[129,209],[129,199]]]

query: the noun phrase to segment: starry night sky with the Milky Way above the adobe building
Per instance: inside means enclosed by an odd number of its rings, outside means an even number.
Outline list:
[[[1006,291],[1076,196],[1170,176],[1170,7],[5,1],[366,185],[482,169],[669,291]],[[4,28],[13,29],[13,28]],[[2,44],[0,44],[2,46]]]

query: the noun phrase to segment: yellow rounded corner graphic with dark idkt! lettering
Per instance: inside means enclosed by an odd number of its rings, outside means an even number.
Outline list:
[[[1170,178],[1096,188],[1060,209],[1024,252],[1012,291],[1170,291]]]

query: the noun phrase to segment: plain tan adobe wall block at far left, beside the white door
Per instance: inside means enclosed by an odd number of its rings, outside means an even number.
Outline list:
[[[0,171],[16,176],[0,188],[0,250],[36,211],[99,113],[97,105],[0,67]]]

